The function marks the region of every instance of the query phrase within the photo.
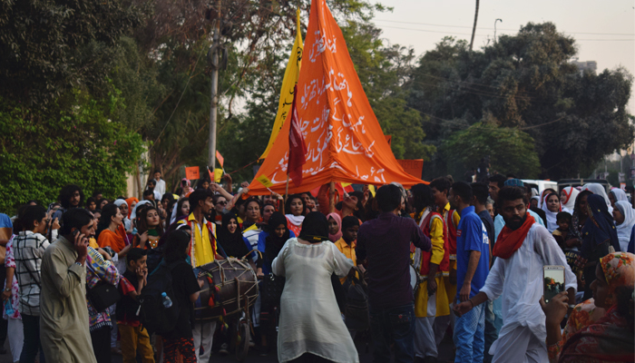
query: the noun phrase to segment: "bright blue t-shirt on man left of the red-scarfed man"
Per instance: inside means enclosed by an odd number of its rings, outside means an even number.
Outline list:
[[[461,221],[456,231],[456,294],[463,287],[465,272],[470,262],[470,251],[481,252],[481,259],[472,278],[470,298],[483,288],[490,271],[490,239],[481,218],[474,212],[474,207],[461,211]]]

